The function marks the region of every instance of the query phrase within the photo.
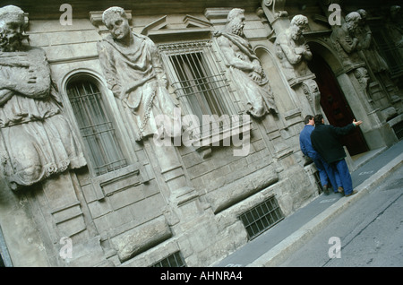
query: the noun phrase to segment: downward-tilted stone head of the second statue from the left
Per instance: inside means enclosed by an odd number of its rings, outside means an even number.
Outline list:
[[[130,39],[131,32],[126,13],[121,7],[110,7],[102,13],[102,22],[118,41]]]

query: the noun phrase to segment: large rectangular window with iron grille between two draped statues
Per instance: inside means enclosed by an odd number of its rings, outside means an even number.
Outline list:
[[[159,45],[169,82],[181,103],[183,115],[195,115],[200,122],[203,115],[227,119],[222,115],[239,113],[229,82],[225,73],[220,71],[211,47],[210,40]]]

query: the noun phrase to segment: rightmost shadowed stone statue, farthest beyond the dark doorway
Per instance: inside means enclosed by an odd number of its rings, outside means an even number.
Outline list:
[[[365,10],[360,9],[357,13],[361,16],[361,21],[356,29],[356,38],[358,39],[357,49],[363,52],[363,59],[367,62],[367,65],[371,68],[373,73],[387,71],[388,65],[378,51],[373,47],[373,35],[366,23]]]

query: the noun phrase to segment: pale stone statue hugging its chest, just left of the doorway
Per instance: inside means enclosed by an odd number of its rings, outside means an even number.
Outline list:
[[[276,39],[276,55],[284,68],[287,80],[312,74],[307,61],[312,59],[312,52],[305,42],[303,31],[308,24],[304,15],[296,15],[289,28]]]

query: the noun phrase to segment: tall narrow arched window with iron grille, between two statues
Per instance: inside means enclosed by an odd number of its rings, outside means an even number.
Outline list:
[[[98,86],[90,81],[76,80],[69,82],[66,90],[95,174],[99,176],[126,166],[115,126]]]

